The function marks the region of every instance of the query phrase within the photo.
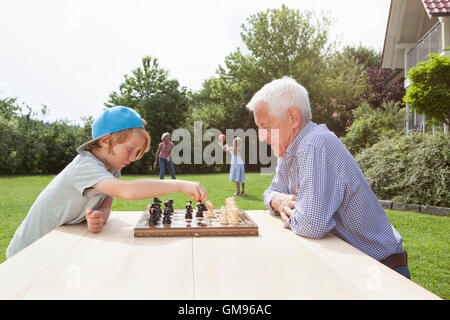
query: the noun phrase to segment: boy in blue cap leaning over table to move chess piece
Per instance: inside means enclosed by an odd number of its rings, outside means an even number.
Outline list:
[[[100,232],[109,218],[115,197],[140,200],[182,192],[194,201],[206,201],[200,183],[183,180],[140,179],[122,181],[120,171],[150,149],[145,120],[133,109],[116,106],[98,117],[93,139],[41,192],[17,228],[6,257],[9,259],[53,229],[87,221],[91,232]]]

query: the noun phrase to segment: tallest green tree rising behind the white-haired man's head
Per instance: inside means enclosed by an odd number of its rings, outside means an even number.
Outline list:
[[[251,15],[241,32],[249,53],[237,49],[228,55],[218,76],[209,82],[211,99],[226,109],[223,123],[228,128],[255,127],[245,105],[262,86],[283,76],[305,86],[313,102],[320,100],[329,24],[325,17],[318,19],[285,5]]]

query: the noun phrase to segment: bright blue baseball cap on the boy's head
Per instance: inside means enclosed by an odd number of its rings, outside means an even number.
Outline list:
[[[108,108],[92,124],[92,140],[79,146],[77,152],[80,153],[87,145],[101,137],[130,128],[144,128],[139,113],[124,106]]]

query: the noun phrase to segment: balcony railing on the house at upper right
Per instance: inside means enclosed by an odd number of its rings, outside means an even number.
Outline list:
[[[407,53],[407,70],[415,67],[419,62],[427,61],[429,53],[440,53],[442,50],[442,24],[436,23]]]

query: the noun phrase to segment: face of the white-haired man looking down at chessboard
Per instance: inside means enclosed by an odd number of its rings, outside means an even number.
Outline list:
[[[269,105],[264,101],[255,105],[253,116],[258,126],[259,141],[267,141],[276,157],[284,157],[290,144],[289,138],[292,129],[290,125],[286,121],[281,121],[277,115],[273,115]]]

